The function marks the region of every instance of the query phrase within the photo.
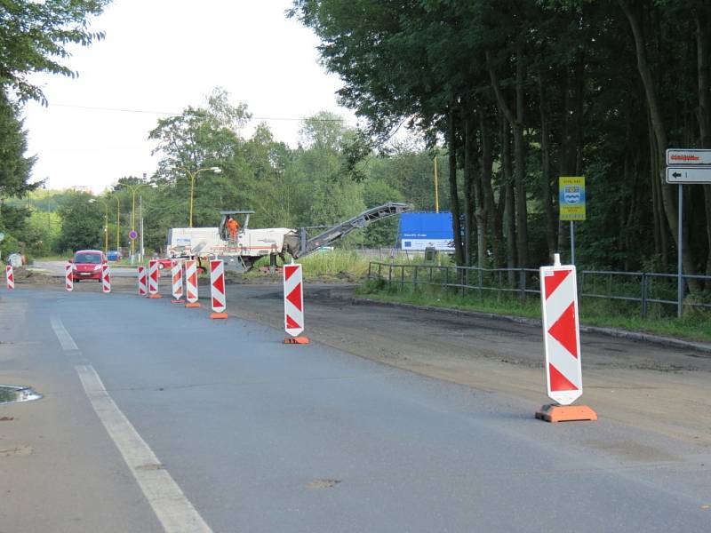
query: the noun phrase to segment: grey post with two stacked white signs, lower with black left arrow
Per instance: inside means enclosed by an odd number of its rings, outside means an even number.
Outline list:
[[[669,166],[673,165],[673,166]],[[667,148],[667,183],[679,186],[676,228],[676,316],[683,314],[683,185],[711,183],[711,150]]]

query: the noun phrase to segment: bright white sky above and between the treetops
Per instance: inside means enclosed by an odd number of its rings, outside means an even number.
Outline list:
[[[72,48],[78,77],[35,76],[48,107],[25,107],[31,181],[99,194],[124,176],[151,175],[159,118],[202,106],[216,86],[295,147],[300,120],[338,105],[338,76],[318,63],[318,39],[284,12],[291,0],[114,0],[92,20],[103,41]]]

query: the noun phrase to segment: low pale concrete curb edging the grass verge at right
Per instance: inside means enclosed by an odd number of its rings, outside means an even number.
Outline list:
[[[403,304],[400,302],[384,302],[380,300],[374,300],[370,298],[352,298],[352,302],[355,305],[367,303],[369,305],[387,306],[387,307],[406,307],[410,309],[417,309],[419,311],[434,311],[443,314],[455,314],[458,316],[474,316],[477,318],[490,318],[493,320],[505,320],[507,322],[515,322],[518,324],[524,324],[527,326],[538,326],[541,327],[541,321],[536,318],[525,318],[523,316],[512,316],[510,314],[493,314],[493,313],[482,313],[479,311],[465,311],[462,309],[448,309],[446,307],[435,307],[435,306],[417,306],[415,304]],[[651,344],[656,344],[659,346],[669,346],[674,348],[682,348],[687,350],[694,350],[696,352],[701,352],[702,354],[711,354],[711,345],[699,342],[693,342],[691,340],[682,340],[680,338],[670,338],[661,337],[659,335],[652,335],[651,333],[640,333],[638,331],[626,331],[626,330],[615,330],[613,328],[598,328],[596,326],[586,326],[580,325],[580,331],[583,333],[598,333],[600,335],[606,335],[608,337],[614,338],[627,338],[630,340],[642,340],[644,342],[649,342]]]

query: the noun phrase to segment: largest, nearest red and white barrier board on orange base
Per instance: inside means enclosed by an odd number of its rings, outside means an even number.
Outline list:
[[[540,267],[543,346],[546,351],[547,394],[555,404],[544,405],[536,418],[548,422],[596,420],[587,405],[571,405],[583,394],[578,323],[578,283],[574,265]]]

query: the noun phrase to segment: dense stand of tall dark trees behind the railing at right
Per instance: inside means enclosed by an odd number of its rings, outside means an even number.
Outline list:
[[[491,252],[501,266],[505,251],[509,267],[565,251],[552,194],[562,175],[587,176],[579,260],[670,263],[664,151],[711,143],[706,0],[294,0],[291,14],[321,39],[374,139],[402,123],[430,148],[444,139],[459,264],[474,247],[480,264]],[[711,271],[711,187],[696,188],[684,187],[687,273]]]

